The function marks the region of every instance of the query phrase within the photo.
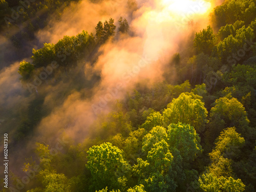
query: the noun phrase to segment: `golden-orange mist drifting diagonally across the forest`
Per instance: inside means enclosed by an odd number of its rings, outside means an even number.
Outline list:
[[[33,93],[20,80],[17,73],[19,62],[0,71],[0,89],[4,90],[0,93],[0,119],[5,119],[5,125],[1,125],[4,127],[2,132],[14,132],[21,119],[20,110],[44,95],[42,108],[46,113],[36,125],[33,135],[26,139],[24,150],[18,153],[22,155],[16,160],[13,158],[12,167],[21,166],[35,147],[35,142],[55,143],[63,133],[75,143],[90,138],[90,127],[97,122],[98,115],[111,112],[116,100],[132,92],[137,83],[150,87],[164,80],[163,73],[170,58],[181,50],[181,46],[184,49],[184,42],[191,38],[190,34],[209,25],[208,13],[216,5],[216,2],[200,4],[200,1],[195,1],[186,8],[196,7],[188,16],[183,10],[174,11],[172,2],[175,1],[138,0],[127,3],[110,0],[92,3],[84,0],[69,5],[60,18],[52,17],[49,25],[36,33],[39,43],[33,47],[39,49],[45,42],[56,44],[63,36],[76,35],[82,30],[95,34],[97,23],[110,17],[115,19],[117,28],[120,16],[126,18],[130,25],[129,34],[117,32],[98,49],[95,62],[84,58],[69,74],[61,76],[56,73],[56,82],[50,83],[55,79],[49,77]],[[93,73],[100,76],[99,81],[93,79]],[[175,72],[172,74],[170,79],[175,80]],[[66,80],[58,81],[59,76]],[[85,82],[92,83],[91,87],[88,88]],[[79,89],[74,89],[75,86]],[[10,113],[5,114],[5,110]],[[16,157],[14,153],[12,157]],[[16,170],[19,172],[20,168]]]

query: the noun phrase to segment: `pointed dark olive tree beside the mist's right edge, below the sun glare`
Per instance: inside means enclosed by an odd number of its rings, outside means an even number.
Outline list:
[[[194,39],[194,46],[198,53],[205,53],[210,55],[212,49],[216,44],[216,37],[214,35],[214,31],[210,26],[207,29],[203,29],[199,33],[196,33],[196,37]]]

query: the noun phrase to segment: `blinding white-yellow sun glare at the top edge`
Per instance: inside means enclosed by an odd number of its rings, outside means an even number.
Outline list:
[[[177,14],[205,14],[211,7],[203,0],[162,0],[162,6]]]

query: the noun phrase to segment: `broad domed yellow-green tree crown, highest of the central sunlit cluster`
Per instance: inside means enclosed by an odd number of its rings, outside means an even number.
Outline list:
[[[204,131],[208,112],[200,99],[202,97],[193,93],[182,93],[177,99],[173,99],[163,112],[165,126],[182,122],[194,126],[199,133]]]

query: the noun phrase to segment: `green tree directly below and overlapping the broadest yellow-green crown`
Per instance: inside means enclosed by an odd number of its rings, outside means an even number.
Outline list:
[[[185,164],[193,161],[202,152],[200,137],[193,126],[172,123],[168,126],[167,134],[169,146],[177,148]]]

